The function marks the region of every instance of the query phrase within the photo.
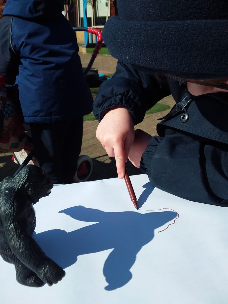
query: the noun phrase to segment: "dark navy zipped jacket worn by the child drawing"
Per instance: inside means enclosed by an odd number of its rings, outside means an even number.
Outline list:
[[[155,187],[195,202],[228,206],[228,93],[190,95],[183,82],[158,82],[143,68],[118,62],[94,101],[100,121],[108,109],[123,106],[140,123],[145,112],[172,94],[176,105],[157,125],[140,169]],[[188,102],[190,100],[190,102]]]

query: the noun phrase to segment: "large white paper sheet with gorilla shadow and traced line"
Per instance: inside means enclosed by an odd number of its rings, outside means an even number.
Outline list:
[[[130,178],[140,210],[118,178],[56,186],[41,199],[34,238],[66,276],[22,286],[0,259],[1,303],[227,304],[228,209]]]

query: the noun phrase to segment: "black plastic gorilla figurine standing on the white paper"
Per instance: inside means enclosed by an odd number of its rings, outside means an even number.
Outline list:
[[[50,178],[35,165],[0,183],[0,254],[15,265],[16,280],[22,285],[51,286],[65,276],[31,237],[36,227],[33,204],[49,195],[51,188]]]

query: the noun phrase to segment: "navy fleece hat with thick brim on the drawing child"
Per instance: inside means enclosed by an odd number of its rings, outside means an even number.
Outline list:
[[[187,79],[227,78],[227,0],[118,0],[105,23],[109,53],[145,71]]]

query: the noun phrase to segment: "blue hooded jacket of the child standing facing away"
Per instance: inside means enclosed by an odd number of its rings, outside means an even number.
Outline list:
[[[63,0],[8,0],[0,20],[0,75],[19,86],[27,123],[51,123],[92,111],[75,33]]]

